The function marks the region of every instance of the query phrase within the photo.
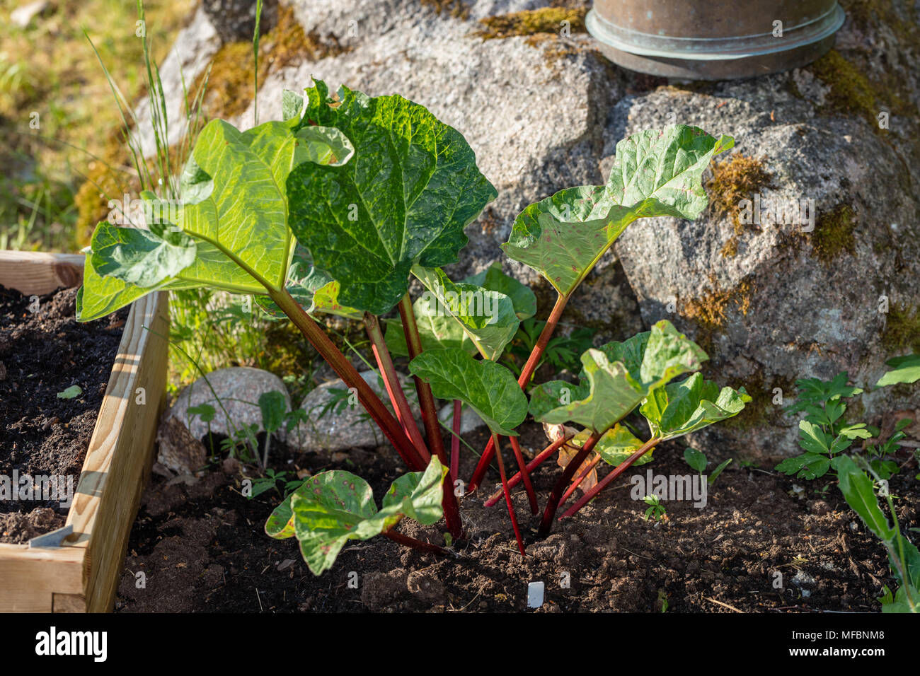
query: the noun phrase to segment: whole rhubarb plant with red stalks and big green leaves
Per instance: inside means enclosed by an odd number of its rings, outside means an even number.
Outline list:
[[[396,533],[403,518],[432,523],[443,515],[450,537],[464,536],[453,489],[462,484],[457,435],[464,404],[490,430],[469,489],[494,457],[523,553],[510,491],[523,483],[536,514],[529,473],[548,457],[577,449],[566,481],[546,505],[544,531],[581,466],[579,457],[594,451],[597,460],[617,465],[614,473],[622,471],[644,462],[639,459],[665,439],[737,415],[747,400],[743,390],[719,390],[696,375],[675,383],[707,357],[668,322],[584,351],[579,383],[531,383],[569,298],[616,237],[639,218],[696,218],[707,205],[702,173],[731,146],[730,137],[684,125],[639,132],[617,144],[606,184],[561,190],[517,216],[505,254],[534,269],[558,294],[539,336],[529,341],[518,377],[500,361],[522,322],[536,326],[534,292],[500,263],[459,281],[445,271],[466,246],[466,226],[497,195],[466,139],[403,97],[368,97],[345,86],[330,95],[318,80],[302,94],[284,92],[280,121],[247,131],[224,120],[209,122],[178,180],[175,217],[164,218],[165,205],[145,192],[143,226],[99,223],[78,317],[107,315],[149,292],[208,287],[252,295],[266,312],[293,322],[357,392],[414,477],[397,481],[382,510],[360,478],[341,472],[316,475],[286,498],[267,532],[295,535],[316,574],[347,540],[376,533],[441,551]],[[424,289],[414,301],[408,293],[413,279]],[[391,313],[398,318],[385,316]],[[326,315],[363,323],[389,406],[328,338],[320,325]],[[394,355],[408,358],[421,429]],[[450,462],[435,397],[454,403]],[[648,441],[620,424],[638,407],[649,420]],[[561,433],[525,463],[517,429],[528,413],[585,430]],[[511,478],[496,453],[502,438],[510,441],[519,469]]]

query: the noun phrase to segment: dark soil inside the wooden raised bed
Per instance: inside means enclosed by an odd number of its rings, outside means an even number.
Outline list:
[[[26,484],[13,480],[23,475],[57,476],[60,487],[69,480],[75,487],[96,426],[128,310],[81,324],[75,300],[75,289],[49,293],[33,313],[29,296],[0,286],[0,481],[17,491]],[[58,398],[72,385],[82,394]],[[48,533],[66,513],[57,499],[4,495],[0,542]]]

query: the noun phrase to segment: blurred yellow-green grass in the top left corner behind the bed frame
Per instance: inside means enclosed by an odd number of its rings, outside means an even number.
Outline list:
[[[129,96],[143,88],[144,46],[135,35],[132,3],[51,3],[25,29],[8,21],[20,4],[0,0],[0,223],[6,231],[0,245],[74,250],[80,245],[78,188],[89,165],[106,155],[107,130],[120,122],[117,109],[100,104],[110,96],[109,84],[83,30],[107,63],[121,64]],[[165,56],[193,4],[148,3],[155,59]],[[32,113],[38,113],[38,129],[30,126]]]

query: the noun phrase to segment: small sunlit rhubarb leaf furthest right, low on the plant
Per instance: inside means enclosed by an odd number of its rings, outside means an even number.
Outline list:
[[[743,387],[719,390],[719,385],[694,373],[680,383],[654,389],[639,412],[649,421],[652,435],[668,440],[737,416],[749,401]]]

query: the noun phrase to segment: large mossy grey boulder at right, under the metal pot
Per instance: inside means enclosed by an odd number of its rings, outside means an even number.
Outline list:
[[[771,175],[747,196],[762,223],[736,227],[712,211],[694,223],[646,220],[615,245],[643,322],[670,319],[707,349],[708,377],[753,395],[739,418],[691,438],[719,453],[763,462],[797,453],[799,418],[782,413],[796,379],[847,371],[871,386],[884,361],[920,341],[920,201],[909,168],[920,129],[915,117],[892,115],[880,129],[874,109],[828,109],[841,85],[814,74],[823,68],[658,87],[620,99],[607,127],[604,165],[620,138],[679,120],[734,136],[733,152],[762,158]],[[768,222],[768,206],[803,200],[806,223]],[[920,406],[920,388],[879,390],[862,403],[860,419],[879,422]]]

